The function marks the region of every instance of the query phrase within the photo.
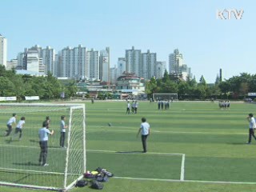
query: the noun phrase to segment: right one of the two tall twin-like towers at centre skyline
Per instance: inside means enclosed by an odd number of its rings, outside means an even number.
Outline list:
[[[139,70],[139,77],[150,79],[155,76],[157,64],[157,54],[150,53],[150,50],[147,50],[146,53],[142,54],[142,67]]]

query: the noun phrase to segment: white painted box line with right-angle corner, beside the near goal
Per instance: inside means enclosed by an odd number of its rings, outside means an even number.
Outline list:
[[[114,150],[86,150],[90,152],[95,152],[95,153],[110,153],[110,154],[142,154],[141,152],[127,152],[127,151],[114,151]],[[146,154],[142,155],[177,155],[177,156],[182,156],[182,165],[181,165],[181,174],[180,174],[180,179],[178,181],[184,181],[184,176],[185,176],[185,154],[171,154],[171,153],[150,153],[147,152]],[[171,179],[167,179],[171,180]]]

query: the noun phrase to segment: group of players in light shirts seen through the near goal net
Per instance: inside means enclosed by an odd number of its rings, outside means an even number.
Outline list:
[[[5,136],[10,136],[10,133],[13,130],[13,126],[15,126],[15,132],[12,137],[10,137],[10,141],[12,141],[19,133],[19,140],[22,139],[22,128],[25,125],[25,117],[22,117],[18,123],[16,124],[17,114],[12,114],[12,117],[8,120],[6,123],[7,130],[5,131]],[[59,145],[62,148],[66,148],[64,146],[65,138],[66,138],[66,129],[68,126],[66,126],[66,116],[61,116],[61,122],[60,122],[60,142]],[[50,117],[47,116],[46,120],[42,122],[42,128],[38,131],[38,138],[39,138],[39,146],[40,146],[40,155],[39,155],[39,164],[40,166],[49,166],[48,163],[46,163],[47,154],[48,154],[48,139],[49,135],[54,134],[54,130],[49,130],[50,128]]]

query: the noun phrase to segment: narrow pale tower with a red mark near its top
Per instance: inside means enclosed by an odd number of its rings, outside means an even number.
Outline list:
[[[100,52],[99,78],[102,82],[110,82],[110,47]]]

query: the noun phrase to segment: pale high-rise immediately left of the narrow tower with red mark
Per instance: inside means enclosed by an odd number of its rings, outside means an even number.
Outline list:
[[[99,79],[98,50],[91,49],[86,52],[86,78]]]

